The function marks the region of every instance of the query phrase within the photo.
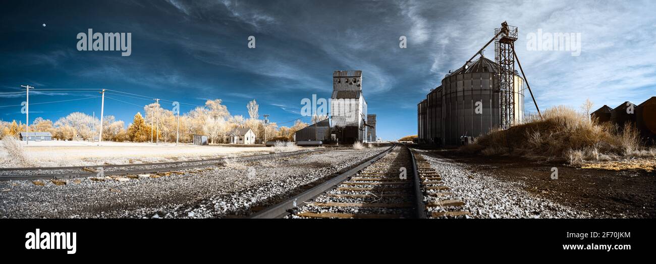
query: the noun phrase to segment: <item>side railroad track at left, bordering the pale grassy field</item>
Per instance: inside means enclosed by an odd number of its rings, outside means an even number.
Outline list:
[[[313,152],[326,151],[325,148],[313,150],[298,150],[276,154],[258,154],[251,156],[234,157],[239,162],[254,162],[286,156],[295,156]],[[204,160],[188,160],[182,162],[157,162],[148,164],[117,164],[117,165],[89,165],[66,167],[15,167],[0,168],[0,181],[9,180],[36,180],[36,179],[70,179],[78,177],[92,177],[102,172],[104,176],[129,175],[146,173],[163,173],[182,169],[211,167],[224,164],[226,158],[209,158]]]

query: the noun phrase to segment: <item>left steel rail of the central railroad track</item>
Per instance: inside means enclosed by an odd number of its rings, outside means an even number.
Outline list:
[[[373,162],[376,162],[377,160],[380,160],[383,156],[386,154],[390,153],[394,148],[396,148],[399,144],[398,143],[393,143],[392,146],[387,148],[386,150],[383,150],[375,156],[374,158],[371,158],[370,160],[367,160],[363,162],[362,164],[349,169],[348,171],[337,175],[337,177],[333,177],[333,179],[329,179],[328,181],[325,181],[316,187],[310,188],[309,190],[306,190],[304,192],[301,192],[300,194],[297,194],[296,196],[293,196],[292,198],[289,198],[283,202],[279,202],[275,204],[274,206],[270,206],[269,208],[266,208],[262,211],[258,211],[257,213],[249,216],[248,218],[252,219],[268,219],[268,218],[281,218],[285,217],[286,215],[289,215],[293,213],[294,208],[298,208],[302,206],[302,203],[312,200],[316,198],[317,196],[323,194],[324,192],[327,192],[329,190],[332,190],[333,188],[337,187],[337,185],[340,185],[340,183],[346,181],[349,177],[352,177],[353,175],[356,175],[358,171],[361,171],[365,167],[368,167],[369,165],[373,164]],[[423,199],[422,199],[423,200]]]

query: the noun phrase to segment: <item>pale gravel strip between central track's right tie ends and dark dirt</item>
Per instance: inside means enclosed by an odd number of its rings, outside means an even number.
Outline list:
[[[418,153],[440,173],[444,185],[451,188],[453,197],[465,204],[462,209],[476,218],[590,218],[604,217],[602,213],[590,213],[552,202],[523,190],[523,183],[500,181],[472,171],[466,164]]]

